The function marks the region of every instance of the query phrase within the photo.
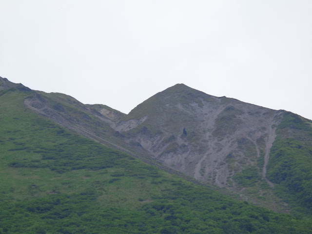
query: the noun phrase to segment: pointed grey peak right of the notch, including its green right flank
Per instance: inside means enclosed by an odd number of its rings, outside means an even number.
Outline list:
[[[139,104],[115,129],[177,171],[289,212],[293,203],[312,206],[311,126],[290,112],[176,84]]]

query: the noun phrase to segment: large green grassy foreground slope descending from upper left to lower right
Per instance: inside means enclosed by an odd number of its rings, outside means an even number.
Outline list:
[[[311,233],[72,134],[0,93],[0,233]]]

